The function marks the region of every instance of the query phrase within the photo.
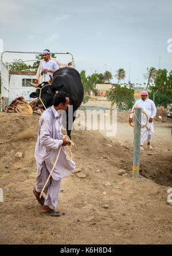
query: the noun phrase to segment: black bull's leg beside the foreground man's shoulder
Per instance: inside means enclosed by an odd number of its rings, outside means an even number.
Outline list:
[[[62,114],[62,125],[64,129],[67,129],[67,135],[71,139],[71,131],[72,131],[72,125],[75,121],[76,117],[76,108],[73,108],[73,106],[69,106],[67,109],[67,112]]]

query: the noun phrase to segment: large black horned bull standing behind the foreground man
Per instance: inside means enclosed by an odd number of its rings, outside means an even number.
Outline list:
[[[42,88],[43,86],[44,88]],[[67,109],[67,114],[63,115],[63,126],[67,129],[67,135],[71,138],[72,124],[76,116],[75,111],[83,102],[84,97],[84,89],[79,72],[71,67],[60,68],[53,74],[52,85],[49,85],[48,82],[43,82],[38,87],[42,88],[41,95],[40,89],[37,89],[36,92],[30,94],[30,98],[41,97],[46,108],[53,105],[53,97],[56,91],[68,93],[70,106]]]

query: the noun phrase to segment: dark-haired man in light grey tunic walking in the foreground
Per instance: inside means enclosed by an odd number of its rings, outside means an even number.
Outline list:
[[[67,146],[69,140],[62,138],[62,112],[66,111],[69,106],[69,96],[67,93],[59,92],[54,95],[53,105],[42,113],[38,124],[38,137],[35,149],[35,158],[37,163],[36,188],[33,193],[38,202],[42,205],[41,212],[50,216],[60,216],[56,212],[58,196],[60,193],[61,179],[71,174],[75,170],[75,163],[67,160],[64,147],[57,159],[60,146]],[[52,175],[45,187],[46,199],[40,194],[49,177],[50,171]],[[50,209],[49,206],[53,209]]]

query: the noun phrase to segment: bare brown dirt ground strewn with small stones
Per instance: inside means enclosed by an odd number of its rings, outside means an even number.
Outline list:
[[[134,135],[127,116],[118,112],[113,138],[98,131],[72,131],[76,170],[62,179],[57,206],[61,216],[51,217],[41,213],[33,194],[40,116],[0,113],[1,244],[172,243],[172,205],[167,201],[167,189],[172,188],[172,123],[155,120],[155,132],[167,141],[154,136],[153,150],[144,146],[141,175],[133,179]],[[17,152],[22,152],[21,158]]]

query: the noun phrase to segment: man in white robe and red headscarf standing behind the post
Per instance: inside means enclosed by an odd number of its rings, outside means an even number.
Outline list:
[[[141,93],[141,99],[136,101],[134,106],[132,107],[132,110],[134,110],[135,107],[139,107],[142,108],[144,110],[144,112],[146,112],[147,116],[148,116],[148,123],[147,123],[147,127],[152,131],[147,131],[146,127],[141,129],[140,132],[140,150],[144,150],[143,148],[143,142],[144,140],[147,140],[147,145],[148,148],[151,149],[151,137],[154,136],[154,124],[153,124],[153,119],[156,116],[157,113],[157,109],[156,106],[154,104],[154,102],[152,100],[150,100],[148,98],[148,93],[147,91],[142,91]],[[130,115],[130,119],[129,122],[132,122],[132,117],[133,117],[133,113]],[[143,115],[142,113],[142,125],[146,124],[146,116]]]

